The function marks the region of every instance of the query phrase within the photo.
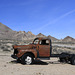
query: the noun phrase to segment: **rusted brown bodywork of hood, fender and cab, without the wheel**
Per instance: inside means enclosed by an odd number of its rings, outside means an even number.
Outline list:
[[[38,43],[35,44],[35,40],[38,40]],[[50,44],[51,40],[48,38],[36,38],[32,44],[29,45],[14,45],[14,55],[16,55],[18,58],[22,57],[25,53],[32,53],[35,58],[38,57],[50,57]],[[40,41],[47,40],[48,45],[46,44],[40,44]],[[17,51],[17,52],[16,52]]]

